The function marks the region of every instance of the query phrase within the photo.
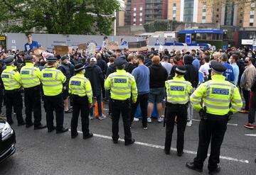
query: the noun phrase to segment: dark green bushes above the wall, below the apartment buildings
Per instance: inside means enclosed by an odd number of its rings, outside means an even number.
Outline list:
[[[171,20],[159,20],[153,21],[151,23],[145,23],[144,28],[146,32],[156,32],[156,31],[174,31],[180,25],[178,21]]]

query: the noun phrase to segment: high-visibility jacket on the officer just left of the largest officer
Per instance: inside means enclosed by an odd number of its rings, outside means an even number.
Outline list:
[[[186,104],[193,87],[184,77],[174,77],[165,82],[167,102],[173,104]]]

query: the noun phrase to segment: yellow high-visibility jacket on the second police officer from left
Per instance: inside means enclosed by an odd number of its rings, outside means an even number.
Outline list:
[[[31,88],[41,84],[41,71],[38,67],[34,67],[33,63],[26,62],[21,68],[21,82],[24,88]]]

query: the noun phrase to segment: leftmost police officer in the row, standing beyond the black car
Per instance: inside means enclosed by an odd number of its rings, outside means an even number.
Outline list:
[[[25,125],[22,117],[22,96],[21,96],[21,74],[16,71],[14,66],[14,56],[8,56],[4,60],[6,69],[1,74],[1,79],[4,82],[5,100],[6,100],[6,118],[11,125],[14,121],[11,118],[12,107],[18,120],[18,125]]]

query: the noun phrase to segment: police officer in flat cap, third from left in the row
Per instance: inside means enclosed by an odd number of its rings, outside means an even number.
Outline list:
[[[46,58],[48,67],[41,72],[43,84],[44,103],[46,108],[46,123],[48,132],[56,130],[56,133],[66,132],[68,128],[63,128],[64,103],[62,91],[65,89],[66,77],[56,69],[57,58],[49,56]],[[56,127],[53,125],[53,111],[56,113]]]

